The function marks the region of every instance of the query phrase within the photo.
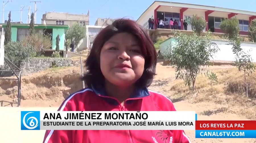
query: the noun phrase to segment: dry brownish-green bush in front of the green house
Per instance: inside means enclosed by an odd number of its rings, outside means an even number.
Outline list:
[[[27,36],[23,40],[24,46],[29,44],[34,47],[36,56],[40,56],[46,49],[50,49],[52,46],[51,43],[51,36],[40,32]]]

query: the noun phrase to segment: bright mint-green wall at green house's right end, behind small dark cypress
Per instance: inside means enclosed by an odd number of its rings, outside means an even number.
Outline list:
[[[59,50],[64,50],[65,29],[52,29],[52,49],[56,49],[56,37],[59,34]]]

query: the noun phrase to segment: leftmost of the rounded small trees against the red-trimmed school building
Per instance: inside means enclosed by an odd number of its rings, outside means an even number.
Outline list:
[[[191,29],[198,35],[201,35],[205,27],[206,21],[203,18],[197,17],[197,15],[193,15],[191,19]]]

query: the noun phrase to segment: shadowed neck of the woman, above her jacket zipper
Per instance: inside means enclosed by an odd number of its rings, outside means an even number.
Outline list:
[[[120,103],[131,97],[134,91],[134,86],[116,86],[110,82],[105,83],[105,90],[111,97],[116,98]]]

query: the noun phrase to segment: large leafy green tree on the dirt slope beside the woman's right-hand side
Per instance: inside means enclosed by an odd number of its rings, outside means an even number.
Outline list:
[[[185,81],[185,85],[195,89],[197,75],[203,71],[201,66],[209,66],[210,58],[218,51],[217,46],[211,46],[210,33],[200,36],[198,33],[175,34],[175,44],[163,53],[165,59],[176,69],[176,79]]]

